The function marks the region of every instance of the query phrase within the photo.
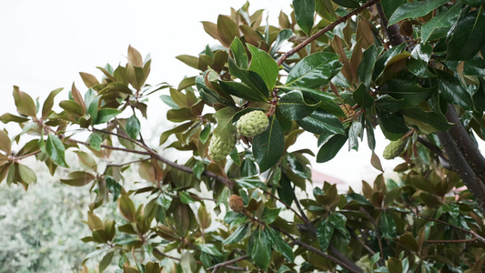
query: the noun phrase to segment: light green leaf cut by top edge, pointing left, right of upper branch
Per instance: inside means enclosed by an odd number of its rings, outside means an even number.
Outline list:
[[[399,5],[389,18],[389,26],[408,18],[417,18],[429,14],[432,10],[448,3],[448,0],[425,0]]]

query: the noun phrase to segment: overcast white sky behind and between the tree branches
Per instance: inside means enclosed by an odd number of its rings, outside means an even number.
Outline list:
[[[142,56],[152,56],[152,70],[147,83],[168,82],[177,86],[184,76],[197,71],[179,62],[175,56],[197,54],[207,44],[216,42],[205,33],[200,21],[217,21],[217,15],[230,13],[242,0],[2,0],[0,1],[0,100],[1,113],[15,113],[12,86],[44,101],[58,87],[69,90],[73,82],[86,90],[78,72],[102,75],[96,66],[117,66],[126,62],[128,45]],[[288,12],[290,0],[250,1],[250,11],[268,10],[269,22],[278,24],[280,10]],[[84,92],[84,91],[83,91]],[[66,99],[67,92],[57,96]],[[163,106],[157,96],[150,101],[149,118],[165,122],[155,109]],[[154,116],[155,115],[155,116]],[[0,128],[3,128],[0,124]],[[157,126],[157,125],[155,125]],[[376,132],[378,133],[378,132]],[[379,137],[380,138],[380,137]],[[308,145],[308,143],[310,143]],[[380,141],[380,156],[387,141]],[[317,153],[317,140],[309,137],[298,147]],[[314,165],[319,171],[360,187],[379,174],[370,166],[367,142],[359,152],[344,147],[335,160]],[[384,160],[391,170],[400,159]],[[387,174],[389,174],[387,172]]]

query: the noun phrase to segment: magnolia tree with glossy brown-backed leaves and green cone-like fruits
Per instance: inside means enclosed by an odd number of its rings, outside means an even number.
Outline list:
[[[129,47],[126,66],[81,73],[87,90],[73,85],[60,112],[61,89],[36,104],[15,87],[20,116],[0,119],[22,132],[0,131],[1,178],[33,187],[23,159],[35,157],[51,174],[69,170],[62,183],[88,186],[83,241],[99,271],[481,272],[484,2],[294,0],[278,26],[246,4],[203,22],[220,45],[177,56],[200,70],[178,86],[147,85],[151,61]],[[140,126],[153,94],[174,123],[155,147]],[[357,150],[364,135],[373,151],[377,128],[391,141],[384,157],[405,159],[399,182],[308,187],[308,157]],[[292,149],[303,132],[318,146]],[[14,142],[25,145],[13,152]],[[191,157],[171,160],[162,146]],[[126,181],[129,169],[143,183]],[[96,216],[111,202],[117,222]]]

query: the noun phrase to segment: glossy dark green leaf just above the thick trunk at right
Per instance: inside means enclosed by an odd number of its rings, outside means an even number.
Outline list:
[[[440,70],[436,70],[436,72],[440,78],[438,86],[440,95],[450,104],[459,105],[465,110],[472,110],[473,100],[467,89],[461,86],[460,80],[446,72]]]

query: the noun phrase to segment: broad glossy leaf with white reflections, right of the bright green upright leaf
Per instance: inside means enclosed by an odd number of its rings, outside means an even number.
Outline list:
[[[317,52],[304,57],[289,71],[286,86],[317,88],[328,84],[338,74],[342,64],[338,55],[329,52]]]

